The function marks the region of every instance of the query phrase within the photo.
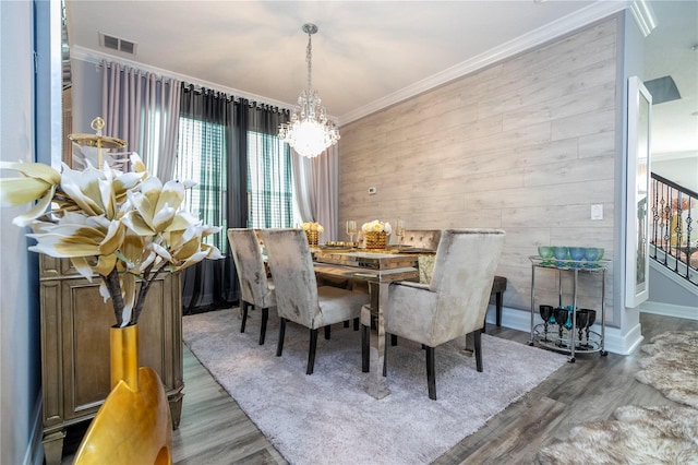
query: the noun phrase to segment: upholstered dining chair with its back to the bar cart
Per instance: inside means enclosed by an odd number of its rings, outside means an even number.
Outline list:
[[[386,333],[426,349],[429,397],[436,400],[436,346],[473,333],[476,367],[482,371],[481,332],[494,273],[504,246],[501,229],[446,229],[436,250],[431,283],[390,284],[385,309]],[[362,308],[362,358],[368,369],[370,306]],[[387,344],[386,344],[387,348]],[[387,355],[384,358],[387,361]],[[385,370],[385,367],[384,367]]]

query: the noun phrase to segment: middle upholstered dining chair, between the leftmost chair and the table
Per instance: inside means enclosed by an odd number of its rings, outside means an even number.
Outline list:
[[[276,284],[279,313],[279,341],[276,356],[284,351],[286,322],[310,329],[310,348],[305,374],[315,366],[317,330],[348,320],[356,320],[369,295],[333,286],[317,287],[313,259],[305,234],[301,229],[264,229],[269,269]]]

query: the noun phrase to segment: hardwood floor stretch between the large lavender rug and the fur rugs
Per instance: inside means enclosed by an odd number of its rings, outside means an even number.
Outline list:
[[[698,330],[696,320],[649,313],[641,313],[640,322],[642,344],[666,331]],[[504,327],[488,325],[488,333],[521,343],[529,339],[528,333]],[[434,464],[532,463],[541,446],[567,439],[578,424],[612,418],[622,405],[679,405],[635,380],[641,357],[639,348],[629,356],[578,355],[575,363],[562,367]]]

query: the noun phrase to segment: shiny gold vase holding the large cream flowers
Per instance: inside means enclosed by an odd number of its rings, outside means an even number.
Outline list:
[[[139,368],[139,326],[111,327],[111,392],[97,412],[74,464],[171,464],[172,419],[163,382]]]

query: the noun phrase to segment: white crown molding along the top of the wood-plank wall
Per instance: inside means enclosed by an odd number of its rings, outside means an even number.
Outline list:
[[[645,3],[645,0],[636,0]],[[649,9],[649,5],[646,5]],[[496,63],[505,58],[513,57],[539,45],[542,45],[556,37],[578,29],[595,21],[607,17],[618,11],[628,8],[627,1],[597,1],[589,7],[586,7],[575,13],[568,14],[565,17],[561,17],[545,26],[539,27],[528,34],[519,36],[508,43],[505,43],[498,47],[473,57],[470,60],[458,63],[450,67],[440,73],[436,73],[430,78],[411,84],[400,91],[394,92],[383,98],[372,102],[361,108],[357,108],[353,111],[341,115],[338,120],[338,126],[348,124],[352,121],[357,121],[365,116],[380,111],[392,105],[398,104],[418,94],[437,87],[449,81],[454,81],[458,78],[462,78],[466,74],[472,73],[486,65]]]

